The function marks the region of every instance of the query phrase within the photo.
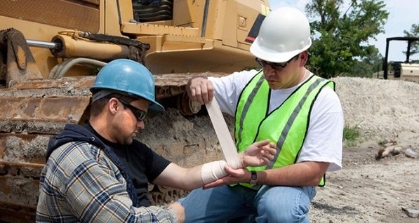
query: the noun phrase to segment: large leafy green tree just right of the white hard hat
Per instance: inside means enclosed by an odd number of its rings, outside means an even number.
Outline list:
[[[368,40],[384,32],[389,15],[384,7],[377,0],[351,0],[349,5],[343,0],[313,0],[307,4],[307,13],[314,20],[310,69],[325,78],[352,74],[359,61],[377,55]]]

